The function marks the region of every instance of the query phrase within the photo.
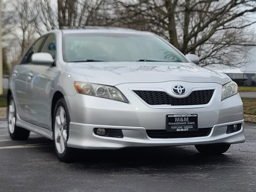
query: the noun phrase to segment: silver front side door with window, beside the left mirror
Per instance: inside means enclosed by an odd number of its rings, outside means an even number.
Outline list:
[[[45,37],[39,52],[48,52],[55,60],[55,36],[50,34]],[[31,63],[28,65],[28,100],[30,111],[29,122],[46,129],[52,128],[51,124],[51,87],[53,74],[56,67],[44,64]]]

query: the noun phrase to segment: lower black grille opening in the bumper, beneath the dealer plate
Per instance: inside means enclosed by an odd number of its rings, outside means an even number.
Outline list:
[[[147,130],[148,137],[158,139],[205,137],[210,134],[212,128],[201,128],[197,131],[167,132],[166,130]]]

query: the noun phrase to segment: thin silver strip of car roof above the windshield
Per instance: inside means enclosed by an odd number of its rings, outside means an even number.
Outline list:
[[[130,34],[152,34],[148,31],[139,31],[130,28],[119,27],[98,27],[98,26],[86,26],[83,28],[62,28],[60,29],[63,34],[72,33],[130,33]]]

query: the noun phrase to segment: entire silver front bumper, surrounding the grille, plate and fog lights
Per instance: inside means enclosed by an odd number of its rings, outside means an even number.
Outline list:
[[[168,90],[179,82],[156,84],[120,84],[116,86],[130,101],[76,94],[65,96],[71,118],[68,147],[84,149],[117,149],[124,147],[173,146],[212,143],[242,143],[244,137],[243,102],[236,94],[221,101],[220,84],[186,83],[191,89],[214,89],[210,102],[195,106],[149,106],[132,90]],[[157,88],[158,87],[158,88]],[[167,92],[167,91],[166,91]],[[171,94],[171,93],[170,93]],[[153,139],[147,130],[165,130],[166,115],[197,114],[198,129],[212,127],[208,136],[191,138]],[[227,134],[227,126],[242,123],[238,132]],[[94,128],[122,129],[124,138],[103,137],[94,134]]]

